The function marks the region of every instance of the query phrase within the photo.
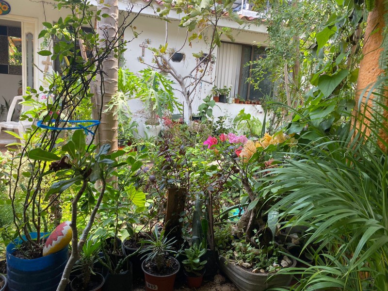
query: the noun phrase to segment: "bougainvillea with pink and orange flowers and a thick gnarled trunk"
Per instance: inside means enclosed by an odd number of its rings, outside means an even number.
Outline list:
[[[266,133],[259,140],[222,133],[209,136],[203,143],[219,161],[220,169],[234,169],[230,178],[242,185],[241,202],[247,206],[237,226],[243,230],[247,242],[252,242],[255,247],[272,241],[275,234],[274,230],[266,227],[263,216],[270,205],[269,200],[260,195],[260,178],[267,174],[266,168],[275,166],[275,158],[282,148],[292,142],[292,138],[278,132],[274,135]]]

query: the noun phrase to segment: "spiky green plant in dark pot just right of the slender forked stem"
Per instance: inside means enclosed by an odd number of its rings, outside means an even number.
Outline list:
[[[95,264],[99,259],[101,242],[89,238],[82,246],[80,259],[75,263],[72,272],[77,275],[70,282],[71,291],[102,291],[104,276],[95,272]]]

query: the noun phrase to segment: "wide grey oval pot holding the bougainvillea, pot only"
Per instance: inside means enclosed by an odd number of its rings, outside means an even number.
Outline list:
[[[269,288],[290,286],[292,280],[292,275],[288,274],[252,273],[234,263],[226,264],[224,257],[219,257],[218,265],[240,291],[264,291]],[[295,265],[296,260],[292,259],[291,267]]]

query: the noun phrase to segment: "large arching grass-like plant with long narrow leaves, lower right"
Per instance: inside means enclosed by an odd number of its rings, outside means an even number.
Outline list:
[[[301,276],[292,290],[388,290],[388,108],[376,102],[267,175],[284,226],[308,228],[302,251],[319,245],[307,268],[281,271]]]

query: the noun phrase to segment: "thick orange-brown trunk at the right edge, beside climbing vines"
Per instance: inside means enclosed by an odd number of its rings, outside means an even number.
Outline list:
[[[388,125],[388,112],[381,105],[388,106],[387,82],[380,86],[373,87],[373,85],[385,76],[388,53],[388,40],[385,33],[387,12],[387,1],[376,0],[374,9],[368,15],[365,44],[362,49],[364,57],[360,62],[358,73],[354,114],[357,129],[365,130],[368,137],[372,137],[372,131],[377,130],[376,133],[380,136],[378,145],[383,149],[386,148],[384,142],[388,142],[388,132],[384,130]],[[365,93],[363,93],[364,90]],[[371,91],[380,95],[371,94],[368,98]],[[360,107],[358,107],[359,103]]]

